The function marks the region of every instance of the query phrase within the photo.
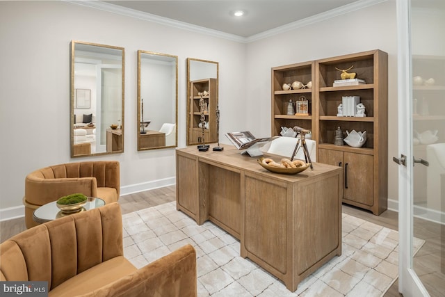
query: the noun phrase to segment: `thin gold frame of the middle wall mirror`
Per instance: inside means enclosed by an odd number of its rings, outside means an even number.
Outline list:
[[[149,54],[153,56],[163,56],[168,58],[174,58],[175,59],[175,145],[164,145],[164,146],[154,146],[154,147],[140,147],[140,122],[141,122],[141,102],[140,102],[140,63],[141,63],[141,54]],[[136,127],[137,127],[137,150],[138,151],[144,151],[144,150],[158,150],[163,148],[169,148],[169,147],[177,147],[178,145],[178,56],[170,55],[170,54],[162,54],[155,51],[143,51],[141,49],[138,50],[138,116],[136,117]]]

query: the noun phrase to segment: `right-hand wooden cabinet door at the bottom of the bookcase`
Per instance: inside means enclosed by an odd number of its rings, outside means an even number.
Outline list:
[[[372,206],[374,158],[368,154],[344,153],[344,199]]]

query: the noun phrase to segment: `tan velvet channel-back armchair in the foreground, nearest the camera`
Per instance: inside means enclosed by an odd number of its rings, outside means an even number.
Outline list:
[[[186,245],[137,269],[125,257],[118,203],[65,216],[0,245],[1,281],[47,281],[49,296],[197,296],[196,253]]]

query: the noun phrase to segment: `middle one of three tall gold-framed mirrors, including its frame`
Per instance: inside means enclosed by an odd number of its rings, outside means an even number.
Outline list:
[[[138,150],[177,146],[178,57],[138,51]]]

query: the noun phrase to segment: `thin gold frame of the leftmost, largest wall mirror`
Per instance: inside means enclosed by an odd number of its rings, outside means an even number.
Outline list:
[[[75,63],[75,47],[76,44],[79,45],[90,45],[90,46],[95,46],[95,47],[105,47],[107,49],[118,49],[122,52],[121,55],[121,62],[122,62],[122,95],[121,95],[121,136],[120,136],[120,147],[122,148],[121,150],[116,150],[114,152],[108,152],[108,149],[106,152],[97,152],[97,153],[93,153],[93,154],[74,154],[74,95],[75,95],[75,88],[74,88],[74,63]],[[113,45],[101,45],[98,43],[93,43],[93,42],[83,42],[83,41],[79,41],[79,40],[72,40],[71,41],[71,108],[70,108],[70,134],[71,134],[71,157],[82,157],[82,156],[99,156],[99,155],[104,155],[104,154],[117,154],[117,153],[122,153],[124,152],[124,93],[125,93],[125,49],[124,47],[115,47]]]

